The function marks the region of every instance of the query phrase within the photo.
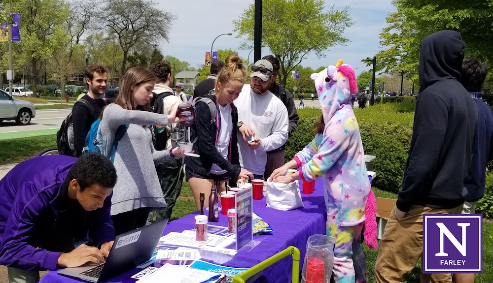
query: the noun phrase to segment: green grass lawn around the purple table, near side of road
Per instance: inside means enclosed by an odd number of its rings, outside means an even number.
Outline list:
[[[56,146],[56,136],[35,136],[20,139],[0,140],[0,165],[17,163],[34,157],[44,148]],[[373,188],[377,197],[396,198],[395,193]],[[176,220],[196,211],[195,201],[188,182],[183,182],[181,194],[176,201],[171,220]],[[373,270],[378,251],[370,250],[363,245],[368,268],[368,282],[374,283]],[[419,283],[421,273],[421,262],[412,270],[406,279],[407,283]],[[476,275],[475,283],[493,282],[493,221],[483,220],[483,274]]]

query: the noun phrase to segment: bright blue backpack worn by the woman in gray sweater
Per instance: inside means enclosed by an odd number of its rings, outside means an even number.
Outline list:
[[[86,135],[86,142],[84,144],[84,148],[82,149],[82,154],[86,154],[88,152],[96,152],[104,155],[105,153],[105,145],[103,143],[103,135],[101,133],[101,120],[97,119],[91,125],[91,129]],[[115,159],[116,147],[118,146],[118,141],[123,137],[125,132],[128,129],[128,124],[120,125],[115,133],[115,139],[113,140],[113,145],[111,146],[111,150],[109,151],[107,157],[111,162]]]

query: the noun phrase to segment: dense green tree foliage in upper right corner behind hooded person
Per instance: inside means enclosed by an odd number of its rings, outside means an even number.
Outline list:
[[[397,12],[387,17],[389,26],[380,34],[388,48],[377,54],[377,70],[418,73],[419,46],[428,34],[441,30],[460,32],[466,56],[489,63],[493,58],[492,1],[395,0]],[[417,83],[417,77],[413,77]],[[399,86],[400,88],[400,86]]]

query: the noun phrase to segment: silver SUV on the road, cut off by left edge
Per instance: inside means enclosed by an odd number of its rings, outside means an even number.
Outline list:
[[[16,99],[0,90],[0,123],[15,120],[19,125],[28,125],[36,115],[33,103]]]

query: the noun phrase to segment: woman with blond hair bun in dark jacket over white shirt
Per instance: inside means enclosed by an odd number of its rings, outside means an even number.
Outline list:
[[[200,209],[200,193],[205,193],[204,207],[209,204],[211,186],[220,184],[217,191],[226,189],[231,178],[251,178],[253,174],[240,166],[238,154],[238,110],[233,101],[238,98],[246,80],[246,69],[236,54],[226,58],[226,65],[217,75],[214,93],[205,95],[217,106],[215,123],[211,123],[211,111],[207,103],[197,103],[195,121],[191,126],[191,141],[195,154],[185,157],[185,180],[192,189],[197,209]]]

